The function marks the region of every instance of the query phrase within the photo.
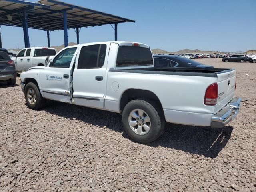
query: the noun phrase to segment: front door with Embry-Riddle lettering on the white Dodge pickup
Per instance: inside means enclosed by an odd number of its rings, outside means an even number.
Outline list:
[[[40,86],[45,98],[70,103],[70,85],[76,50],[76,47],[62,50],[40,73]]]

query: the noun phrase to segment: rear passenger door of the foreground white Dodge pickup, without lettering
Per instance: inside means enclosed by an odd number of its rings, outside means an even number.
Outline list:
[[[81,48],[73,77],[73,101],[76,105],[104,108],[106,47],[106,44],[98,44]]]

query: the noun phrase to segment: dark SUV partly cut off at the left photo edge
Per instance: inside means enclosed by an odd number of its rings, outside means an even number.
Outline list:
[[[9,85],[16,84],[17,72],[13,60],[6,52],[0,51],[0,81],[6,81]]]

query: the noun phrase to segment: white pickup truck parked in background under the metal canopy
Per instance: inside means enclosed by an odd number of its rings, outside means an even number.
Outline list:
[[[47,65],[54,55],[56,55],[54,48],[30,47],[22,49],[16,57],[11,59],[15,63],[16,71],[24,72],[34,66]]]

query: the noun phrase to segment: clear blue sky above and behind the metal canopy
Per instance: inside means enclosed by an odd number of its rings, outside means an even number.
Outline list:
[[[33,0],[30,0],[33,1]],[[256,50],[256,0],[62,0],[135,20],[118,24],[118,40],[176,51]],[[2,26],[5,48],[24,46],[22,28]],[[47,46],[46,32],[29,29],[30,46]],[[63,30],[50,34],[51,45],[64,44]],[[73,29],[68,42],[76,42]],[[80,43],[114,40],[110,25],[82,28]]]

